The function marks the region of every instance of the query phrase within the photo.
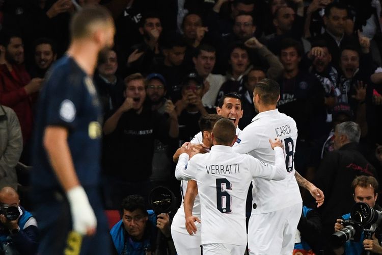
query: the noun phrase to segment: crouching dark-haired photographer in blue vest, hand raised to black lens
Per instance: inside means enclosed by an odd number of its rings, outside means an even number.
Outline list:
[[[118,254],[176,254],[168,213],[146,211],[140,195],[123,199],[121,208],[122,219],[110,231]]]

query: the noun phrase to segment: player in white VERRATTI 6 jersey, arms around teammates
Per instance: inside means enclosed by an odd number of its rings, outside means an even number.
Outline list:
[[[232,121],[218,120],[212,130],[211,151],[197,154],[189,161],[189,155],[182,153],[175,170],[184,180],[197,181],[205,255],[244,254],[247,245],[245,200],[249,184],[255,177],[282,180],[287,175],[279,139],[268,139],[269,148],[275,148],[274,165],[270,165],[252,156],[235,153],[232,149],[237,139],[235,134]],[[187,152],[187,149],[182,151]]]

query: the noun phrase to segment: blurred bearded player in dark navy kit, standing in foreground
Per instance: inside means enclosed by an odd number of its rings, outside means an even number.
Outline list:
[[[113,46],[115,27],[101,7],[70,23],[71,44],[46,76],[34,134],[33,198],[39,254],[109,254],[98,183],[102,113],[92,75]]]

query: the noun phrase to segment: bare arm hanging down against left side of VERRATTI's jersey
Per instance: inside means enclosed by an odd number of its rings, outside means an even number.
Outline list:
[[[186,229],[190,235],[194,235],[197,232],[197,227],[194,222],[201,222],[198,217],[193,216],[193,207],[196,195],[198,195],[198,184],[194,180],[189,180],[187,184],[186,195],[184,196],[183,200],[183,206],[184,217],[186,219]]]

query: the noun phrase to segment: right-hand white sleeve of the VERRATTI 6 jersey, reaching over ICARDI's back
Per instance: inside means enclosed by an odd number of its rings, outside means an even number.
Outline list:
[[[254,178],[283,180],[287,176],[284,162],[284,151],[281,147],[275,147],[275,165],[269,165],[252,156],[249,156],[249,162],[249,169]]]

